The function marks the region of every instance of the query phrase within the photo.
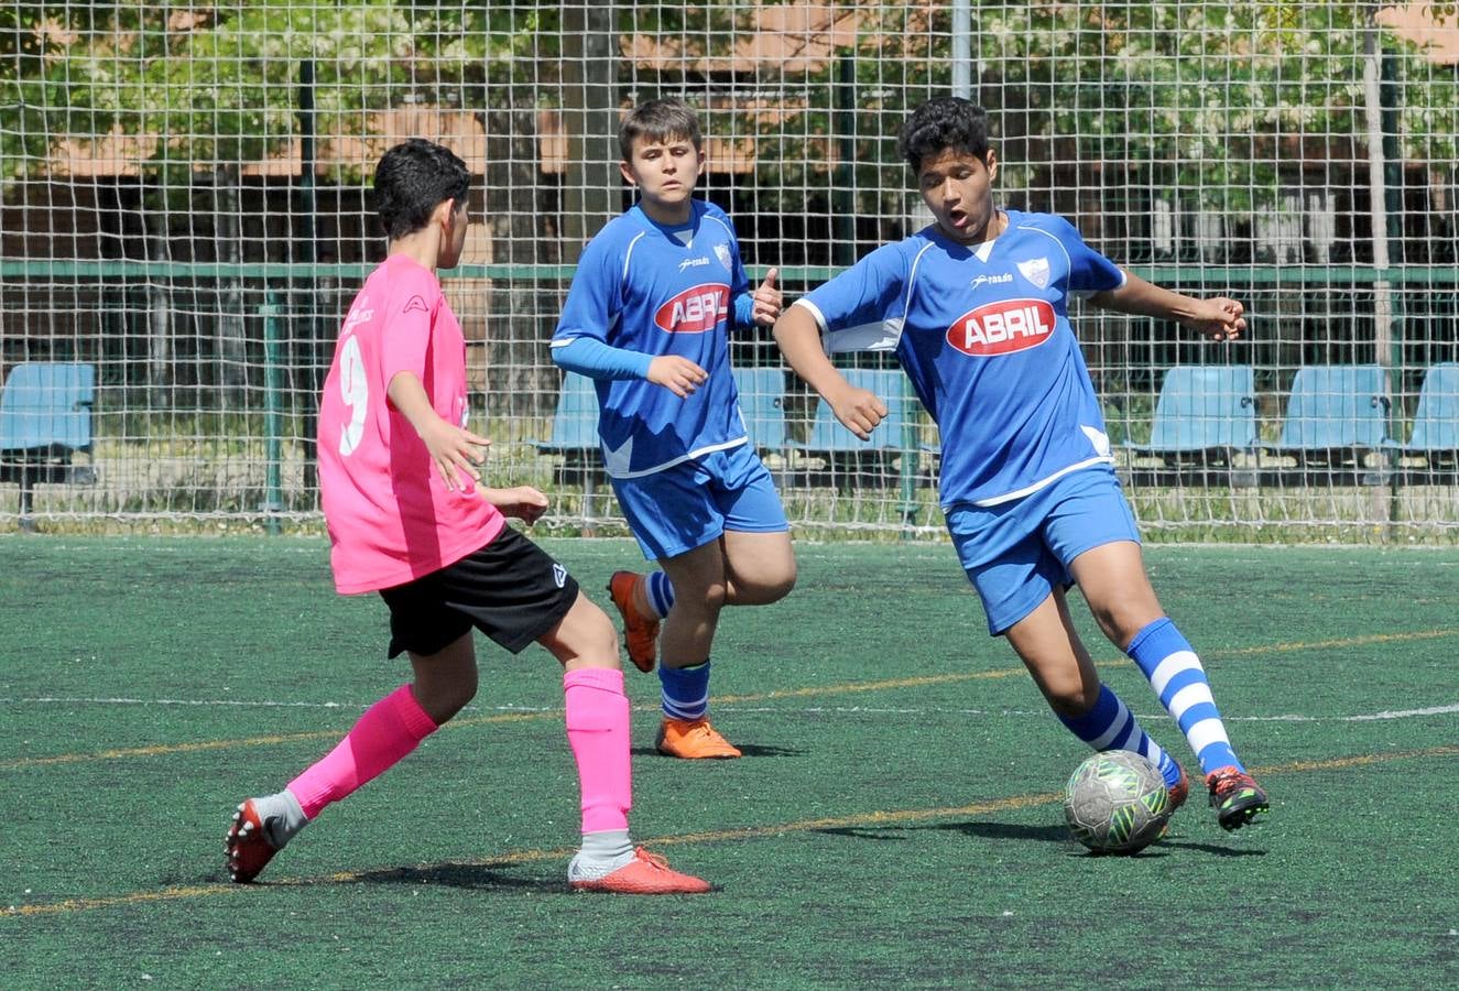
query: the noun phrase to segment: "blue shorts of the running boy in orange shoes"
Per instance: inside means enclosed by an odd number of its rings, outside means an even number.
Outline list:
[[[791,528],[775,482],[748,444],[611,482],[629,528],[649,560],[677,558],[718,540],[725,530]]]

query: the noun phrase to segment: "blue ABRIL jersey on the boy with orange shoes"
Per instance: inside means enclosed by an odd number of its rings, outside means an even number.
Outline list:
[[[728,331],[750,280],[725,212],[692,204],[687,242],[638,206],[610,220],[582,250],[553,334],[553,347],[595,337],[643,355],[680,355],[709,374],[686,398],[645,378],[594,381],[603,460],[614,479],[746,444]]]

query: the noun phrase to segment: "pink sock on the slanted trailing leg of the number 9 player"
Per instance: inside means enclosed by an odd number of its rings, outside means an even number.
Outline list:
[[[427,736],[435,721],[416,702],[409,685],[365,709],[365,715],[321,760],[289,782],[303,814],[314,819],[333,801],[398,763]]]

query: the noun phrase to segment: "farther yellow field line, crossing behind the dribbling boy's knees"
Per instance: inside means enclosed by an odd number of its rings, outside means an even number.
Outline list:
[[[1408,641],[1441,639],[1459,636],[1459,629],[1425,629],[1405,633],[1370,633],[1364,636],[1348,636],[1328,641],[1294,641],[1285,644],[1269,644],[1265,647],[1236,647],[1218,651],[1204,651],[1211,660],[1223,657],[1250,657],[1256,654],[1290,654],[1293,651],[1338,649],[1351,647],[1369,647],[1373,644],[1401,644]],[[1128,658],[1102,660],[1100,667],[1126,667]],[[800,689],[778,689],[773,692],[759,692],[753,695],[716,695],[715,703],[735,705],[744,702],[767,702],[775,699],[802,699],[824,695],[849,695],[855,692],[883,692],[887,689],[924,687],[928,685],[950,685],[956,682],[976,682],[989,679],[1004,679],[1023,674],[1021,667],[1004,667],[989,671],[950,671],[947,674],[926,674],[919,677],[886,679],[880,682],[851,682],[843,685],[818,685]],[[636,706],[641,712],[658,711],[657,703]],[[544,709],[540,712],[499,712],[493,715],[473,715],[452,720],[445,728],[464,728],[471,725],[487,725],[495,722],[527,722],[533,720],[560,718],[562,709]],[[334,740],[340,730],[312,730],[308,733],[285,733],[261,737],[247,737],[244,740],[200,740],[196,743],[158,743],[146,747],[118,747],[114,750],[92,750],[85,753],[57,753],[48,757],[16,757],[0,760],[0,771],[16,771],[22,768],[47,768],[58,763],[82,763],[86,760],[121,760],[125,757],[156,757],[172,753],[198,753],[204,750],[228,750],[233,747],[264,747],[280,743],[301,743],[306,740]]]

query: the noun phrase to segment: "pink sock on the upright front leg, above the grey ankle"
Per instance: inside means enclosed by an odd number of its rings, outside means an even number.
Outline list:
[[[582,785],[582,832],[627,829],[633,771],[623,671],[608,667],[568,671],[562,687],[568,701],[568,743]]]

